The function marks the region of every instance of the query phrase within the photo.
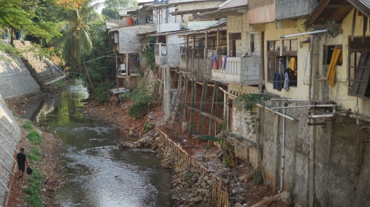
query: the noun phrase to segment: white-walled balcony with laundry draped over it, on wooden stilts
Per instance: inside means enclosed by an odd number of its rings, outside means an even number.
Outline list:
[[[225,56],[222,57],[222,62]],[[261,57],[227,57],[225,70],[212,70],[212,79],[223,83],[258,85],[263,83]]]

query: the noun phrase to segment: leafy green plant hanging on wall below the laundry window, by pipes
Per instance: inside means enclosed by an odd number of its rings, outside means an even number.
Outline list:
[[[270,100],[270,96],[266,94],[244,94],[236,98],[236,101],[241,102],[238,111],[243,111],[247,116],[245,117],[245,124],[247,133],[256,134],[256,130],[260,130],[260,126],[256,125],[260,119],[256,118],[256,105],[263,105],[264,101]]]

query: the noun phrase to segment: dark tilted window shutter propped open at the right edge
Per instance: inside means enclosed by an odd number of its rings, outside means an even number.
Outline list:
[[[370,52],[362,53],[349,96],[364,97],[370,79]]]

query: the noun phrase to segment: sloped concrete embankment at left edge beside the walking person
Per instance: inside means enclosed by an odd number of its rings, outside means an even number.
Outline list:
[[[8,206],[12,176],[16,171],[20,128],[0,95],[0,207]]]

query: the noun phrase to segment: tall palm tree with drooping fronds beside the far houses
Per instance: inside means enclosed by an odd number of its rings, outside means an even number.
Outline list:
[[[64,59],[69,59],[72,66],[77,64],[79,72],[81,72],[82,65],[84,66],[88,83],[94,93],[97,91],[86,68],[85,57],[90,55],[93,50],[95,40],[91,31],[104,32],[102,27],[97,26],[98,23],[103,23],[106,20],[106,16],[95,11],[99,6],[100,3],[93,4],[92,1],[86,1],[78,7],[72,7],[67,14],[67,20],[58,23],[60,33],[63,36],[56,41],[56,46],[63,49]]]

